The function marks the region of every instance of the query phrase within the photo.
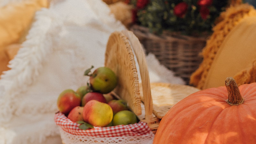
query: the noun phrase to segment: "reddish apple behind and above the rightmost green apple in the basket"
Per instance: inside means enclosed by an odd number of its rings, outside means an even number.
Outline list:
[[[127,103],[124,100],[110,100],[108,105],[112,108],[114,115],[121,110],[128,110]]]

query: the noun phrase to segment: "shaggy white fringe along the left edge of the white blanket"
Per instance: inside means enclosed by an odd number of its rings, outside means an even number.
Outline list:
[[[52,50],[48,45],[51,38],[46,33],[51,26],[51,13],[46,9],[36,13],[36,22],[33,24],[27,41],[16,57],[10,61],[8,71],[1,75],[0,87],[4,88],[0,101],[0,123],[2,120],[10,120],[12,113],[16,110],[12,102],[21,92],[26,92],[28,85],[32,84],[43,68],[43,60]],[[39,34],[40,33],[40,34]]]

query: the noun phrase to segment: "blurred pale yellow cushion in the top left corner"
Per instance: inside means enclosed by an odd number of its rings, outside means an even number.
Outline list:
[[[35,12],[47,6],[47,0],[28,0],[0,8],[0,47],[18,42],[29,28]]]

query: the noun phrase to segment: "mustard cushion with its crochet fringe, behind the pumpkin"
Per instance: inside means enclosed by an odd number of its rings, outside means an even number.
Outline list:
[[[238,85],[256,81],[255,17],[256,10],[249,4],[232,6],[221,13],[190,84],[199,89],[222,86],[228,76],[233,76]]]

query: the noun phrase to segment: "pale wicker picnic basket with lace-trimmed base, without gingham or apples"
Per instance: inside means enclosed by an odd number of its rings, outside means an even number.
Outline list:
[[[135,58],[137,61],[135,61]],[[139,64],[141,83],[139,83],[136,62]],[[74,131],[73,124],[70,126],[69,122],[66,123],[63,120],[58,120],[59,122],[56,122],[57,125],[64,124],[64,127],[60,127],[63,144],[98,143],[99,141],[103,141],[103,143],[133,144],[138,143],[138,140],[140,140],[139,143],[152,141],[161,118],[169,109],[189,94],[199,91],[199,89],[188,85],[150,83],[145,53],[143,52],[139,39],[128,30],[114,32],[109,36],[105,53],[105,66],[112,69],[118,77],[118,85],[111,94],[118,99],[125,100],[140,121],[142,123],[146,122],[149,131],[152,131],[150,132],[151,134],[149,133],[139,137],[92,137],[88,135],[76,135],[66,130],[71,128]],[[56,118],[60,118],[56,115]],[[75,133],[80,133],[80,131],[80,129],[75,130]]]

